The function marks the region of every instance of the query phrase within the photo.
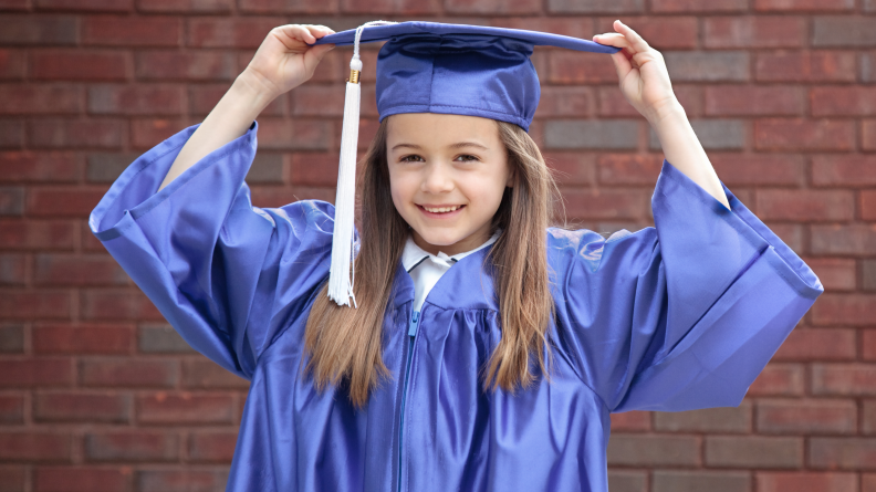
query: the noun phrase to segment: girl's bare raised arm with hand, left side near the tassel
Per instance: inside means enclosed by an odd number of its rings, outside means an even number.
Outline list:
[[[247,133],[252,121],[277,96],[310,80],[334,44],[307,43],[333,32],[324,25],[311,24],[286,24],[271,30],[247,69],[179,151],[158,191],[211,151]]]

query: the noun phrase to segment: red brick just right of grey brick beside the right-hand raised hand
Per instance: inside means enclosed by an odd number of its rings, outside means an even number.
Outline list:
[[[763,82],[854,82],[851,51],[775,51],[758,53],[754,73]]]

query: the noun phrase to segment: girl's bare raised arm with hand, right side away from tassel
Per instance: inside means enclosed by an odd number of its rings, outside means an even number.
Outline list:
[[[612,54],[612,61],[624,96],[650,123],[666,160],[730,209],[718,175],[672,92],[663,55],[623,22],[615,21],[614,29],[617,32],[593,40],[623,48]]]

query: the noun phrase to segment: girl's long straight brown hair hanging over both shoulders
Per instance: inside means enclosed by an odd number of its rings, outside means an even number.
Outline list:
[[[518,125],[496,123],[514,177],[492,220],[492,231],[502,229],[502,233],[484,260],[496,285],[502,337],[487,362],[483,389],[501,386],[514,391],[536,379],[530,370],[533,357],[540,373],[550,379],[548,326],[554,305],[545,229],[559,190],[529,134]],[[383,363],[383,321],[409,234],[389,191],[386,138],[385,118],[362,160],[356,188],[362,192],[361,248],[354,262],[358,308],[332,302],[326,283],[316,295],[305,328],[304,349],[310,360],[304,374],[313,374],[320,391],[330,384],[348,383],[350,399],[358,408],[365,406],[380,377],[392,376]]]

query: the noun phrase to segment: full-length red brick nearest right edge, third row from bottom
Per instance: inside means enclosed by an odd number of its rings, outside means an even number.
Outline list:
[[[857,405],[854,400],[759,400],[758,432],[855,433]]]

